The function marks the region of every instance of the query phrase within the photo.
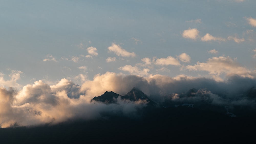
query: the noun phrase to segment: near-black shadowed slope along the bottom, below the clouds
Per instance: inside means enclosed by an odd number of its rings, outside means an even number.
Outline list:
[[[255,120],[178,106],[146,107],[136,118],[102,114],[98,120],[0,128],[0,143],[255,143]]]

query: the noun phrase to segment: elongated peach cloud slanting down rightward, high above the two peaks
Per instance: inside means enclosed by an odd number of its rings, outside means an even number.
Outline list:
[[[108,47],[110,52],[114,52],[116,55],[121,57],[135,57],[136,54],[134,52],[127,52],[126,50],[122,49],[119,45],[112,43],[111,47]]]

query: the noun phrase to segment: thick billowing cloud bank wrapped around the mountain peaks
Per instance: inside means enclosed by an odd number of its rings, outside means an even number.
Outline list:
[[[230,58],[216,57],[207,63],[217,61],[222,65],[212,70],[214,74],[218,74],[225,64],[231,65],[226,69],[227,73],[248,72],[244,68],[235,68],[236,62]],[[188,69],[205,70],[204,63]],[[144,77],[106,72],[95,75],[93,80],[86,80],[81,86],[67,79],[54,85],[39,80],[25,85],[22,90],[0,87],[0,124],[1,127],[55,124],[77,118],[97,119],[104,112],[136,116],[136,110],[143,105],[120,99],[118,104],[90,103],[94,96],[100,96],[105,91],[124,95],[132,87],[139,88],[159,103],[167,100],[173,104],[208,104],[255,110],[255,86],[256,79],[237,74],[228,76],[226,81],[215,81],[186,75],[169,77],[156,74]]]

